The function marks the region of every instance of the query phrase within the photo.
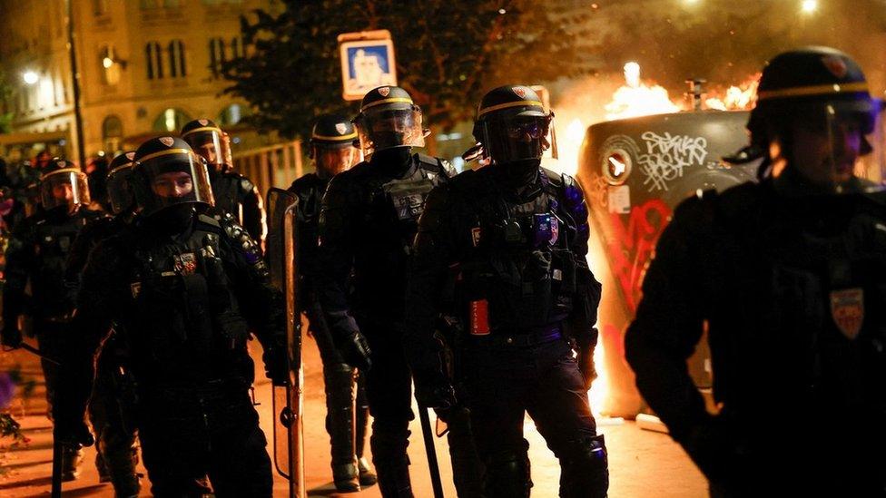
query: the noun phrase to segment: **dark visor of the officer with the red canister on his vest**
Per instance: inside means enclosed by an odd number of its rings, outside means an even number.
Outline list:
[[[483,124],[484,157],[493,163],[540,159],[551,146],[547,136],[554,114],[505,116]]]

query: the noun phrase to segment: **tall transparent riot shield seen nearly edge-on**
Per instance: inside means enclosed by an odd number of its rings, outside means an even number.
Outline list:
[[[301,317],[298,307],[296,227],[299,203],[286,190],[268,192],[267,254],[271,278],[286,299],[286,343],[289,381],[273,386],[274,466],[290,482],[290,498],[304,498],[303,385]]]

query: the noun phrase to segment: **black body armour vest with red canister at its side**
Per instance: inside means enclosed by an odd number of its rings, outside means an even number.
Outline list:
[[[488,176],[464,199],[474,218],[462,225],[469,233],[459,235],[456,280],[470,334],[531,332],[558,325],[572,310],[576,259],[569,241],[576,227],[562,192],[540,175],[537,194],[525,201],[508,200]]]

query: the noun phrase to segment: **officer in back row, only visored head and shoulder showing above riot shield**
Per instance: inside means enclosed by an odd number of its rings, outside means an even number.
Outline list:
[[[199,119],[182,127],[182,139],[209,165],[216,209],[231,213],[252,239],[264,239],[264,208],[259,190],[250,179],[233,171],[231,139],[210,120]]]

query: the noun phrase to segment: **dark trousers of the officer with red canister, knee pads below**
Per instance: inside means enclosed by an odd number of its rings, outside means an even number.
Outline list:
[[[566,341],[513,346],[494,337],[468,337],[466,342],[465,386],[477,452],[487,467],[487,496],[528,495],[527,413],[560,460],[561,495],[597,496],[600,487],[605,495],[605,451],[597,452],[598,464],[591,461],[596,422]],[[599,474],[596,491],[576,493],[581,486],[565,483],[578,474]]]

